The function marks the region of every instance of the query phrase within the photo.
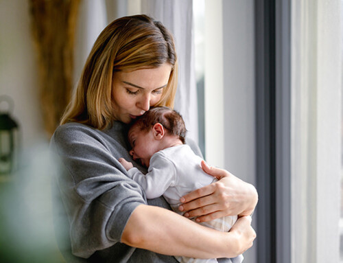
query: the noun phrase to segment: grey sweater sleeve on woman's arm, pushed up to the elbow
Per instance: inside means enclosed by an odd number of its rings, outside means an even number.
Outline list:
[[[69,219],[73,254],[88,258],[120,242],[132,211],[146,200],[114,157],[110,143],[87,126],[64,125],[52,137],[51,150],[60,160],[56,181]]]

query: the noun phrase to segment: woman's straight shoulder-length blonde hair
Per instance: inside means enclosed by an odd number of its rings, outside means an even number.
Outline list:
[[[125,16],[99,35],[86,60],[78,87],[60,124],[80,122],[104,129],[112,124],[112,83],[115,71],[156,68],[169,63],[171,73],[161,100],[154,106],[174,107],[178,63],[173,36],[150,16]]]

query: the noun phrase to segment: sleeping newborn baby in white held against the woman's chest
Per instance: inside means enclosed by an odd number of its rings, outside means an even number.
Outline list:
[[[134,119],[128,131],[128,140],[132,147],[130,155],[148,168],[147,174],[142,174],[125,159],[119,159],[128,170],[130,178],[141,185],[147,198],[163,196],[171,209],[178,214],[182,214],[178,210],[182,196],[217,181],[202,170],[202,159],[185,144],[186,131],[185,122],[176,111],[167,107],[151,108],[141,117]],[[226,216],[200,224],[220,231],[229,231],[236,220],[237,216]],[[179,262],[217,262],[215,259],[176,259]],[[243,261],[243,255],[232,258],[231,261],[240,263]]]

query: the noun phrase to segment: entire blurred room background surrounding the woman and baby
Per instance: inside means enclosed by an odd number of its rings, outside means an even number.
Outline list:
[[[342,5],[0,0],[0,262],[64,262],[49,139],[99,32],[140,13],[176,38],[189,136],[257,187],[244,262],[343,262]]]

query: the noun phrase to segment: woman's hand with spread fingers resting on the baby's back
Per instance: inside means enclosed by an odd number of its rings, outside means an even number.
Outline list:
[[[206,222],[223,216],[250,216],[254,211],[258,195],[255,187],[238,179],[230,172],[210,167],[204,161],[202,170],[218,181],[195,190],[180,199],[180,211],[184,216]]]

